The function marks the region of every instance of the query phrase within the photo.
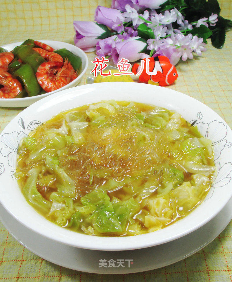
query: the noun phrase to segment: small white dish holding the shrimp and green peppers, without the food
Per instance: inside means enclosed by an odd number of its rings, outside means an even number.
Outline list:
[[[61,42],[61,41],[52,41],[52,40],[38,40],[41,41],[43,43],[46,43],[47,45],[51,46],[52,48],[54,48],[55,50],[61,49],[61,48],[66,48],[67,50],[71,51],[73,54],[79,56],[81,58],[81,71],[78,72],[79,75],[76,79],[74,79],[73,81],[71,81],[70,83],[68,83],[67,85],[45,93],[45,94],[41,94],[41,95],[37,95],[37,96],[32,96],[32,97],[25,97],[25,98],[15,98],[15,99],[2,99],[0,98],[0,107],[11,107],[11,108],[16,108],[16,107],[27,107],[29,105],[31,105],[32,103],[48,96],[51,95],[53,93],[56,93],[58,91],[64,90],[64,89],[68,89],[74,86],[77,86],[77,84],[80,82],[82,76],[85,74],[86,69],[88,67],[88,58],[85,54],[84,51],[82,51],[80,48],[76,47],[75,45],[69,44],[69,43],[65,43],[65,42]],[[4,49],[6,49],[7,51],[12,51],[16,46],[21,45],[23,43],[23,41],[21,42],[16,42],[16,43],[10,43],[7,45],[3,45],[1,47],[3,47]]]

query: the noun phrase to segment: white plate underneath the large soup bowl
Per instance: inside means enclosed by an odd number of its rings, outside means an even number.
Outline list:
[[[2,223],[14,238],[28,250],[47,261],[66,268],[101,274],[147,271],[186,259],[213,241],[227,226],[231,218],[232,198],[218,215],[204,226],[182,238],[140,250],[106,252],[74,248],[44,238],[20,224],[0,204]],[[229,240],[229,238],[227,239]],[[115,261],[116,267],[108,267],[108,261],[112,259]],[[101,260],[105,260],[104,265],[107,267],[101,266]],[[118,266],[120,260],[122,260],[124,267]]]

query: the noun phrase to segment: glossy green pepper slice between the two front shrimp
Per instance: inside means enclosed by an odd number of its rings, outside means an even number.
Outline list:
[[[23,82],[29,97],[36,96],[40,93],[41,87],[39,86],[34,71],[29,64],[22,65],[13,73],[13,75]]]

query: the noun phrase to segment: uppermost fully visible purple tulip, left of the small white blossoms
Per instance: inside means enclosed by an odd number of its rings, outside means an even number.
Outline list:
[[[97,6],[94,17],[95,21],[107,25],[113,30],[117,30],[118,33],[124,29],[123,22],[125,18],[119,10]]]

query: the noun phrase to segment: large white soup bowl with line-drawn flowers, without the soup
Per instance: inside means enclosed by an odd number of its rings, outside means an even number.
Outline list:
[[[14,179],[20,139],[60,111],[101,100],[131,100],[177,111],[213,141],[216,177],[206,199],[175,224],[131,237],[98,237],[61,228],[46,220],[23,197]],[[37,101],[16,116],[0,135],[0,201],[21,224],[55,241],[93,250],[130,250],[159,245],[180,238],[215,217],[232,196],[232,131],[226,122],[201,102],[154,85],[112,82],[82,85]]]

